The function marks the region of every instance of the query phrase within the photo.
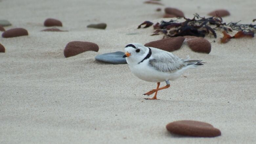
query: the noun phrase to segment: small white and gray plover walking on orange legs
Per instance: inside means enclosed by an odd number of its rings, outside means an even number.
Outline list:
[[[174,81],[188,69],[195,69],[203,65],[202,60],[190,60],[189,56],[182,59],[177,55],[153,47],[146,47],[139,43],[130,43],[124,48],[123,58],[131,72],[139,79],[147,82],[156,82],[157,88],[144,95],[155,93],[148,100],[157,100],[157,92],[170,87],[170,81]],[[166,86],[159,88],[160,82],[166,82]]]

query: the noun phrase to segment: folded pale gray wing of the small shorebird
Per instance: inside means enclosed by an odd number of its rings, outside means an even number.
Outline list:
[[[152,49],[151,56],[149,65],[160,72],[175,72],[188,65],[186,60],[181,59],[177,55],[159,49]]]

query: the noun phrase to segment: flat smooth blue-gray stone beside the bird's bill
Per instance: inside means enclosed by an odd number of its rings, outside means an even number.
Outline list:
[[[98,61],[111,63],[111,64],[126,64],[126,59],[123,58],[124,52],[117,51],[112,53],[104,53],[100,55],[96,55],[95,59]]]

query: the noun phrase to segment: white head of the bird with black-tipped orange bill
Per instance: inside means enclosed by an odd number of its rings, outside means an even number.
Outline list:
[[[139,43],[130,43],[125,46],[124,48],[125,54],[123,57],[127,59],[138,59],[140,60],[141,58],[144,58],[145,53],[148,51],[148,48],[145,47],[142,44]]]

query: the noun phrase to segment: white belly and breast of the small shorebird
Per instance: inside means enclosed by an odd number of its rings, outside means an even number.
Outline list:
[[[144,61],[143,63],[130,66],[130,70],[132,73],[137,76],[139,79],[148,82],[163,82],[167,80],[175,80],[181,76],[183,72],[159,72],[153,67],[148,65],[148,61]]]

